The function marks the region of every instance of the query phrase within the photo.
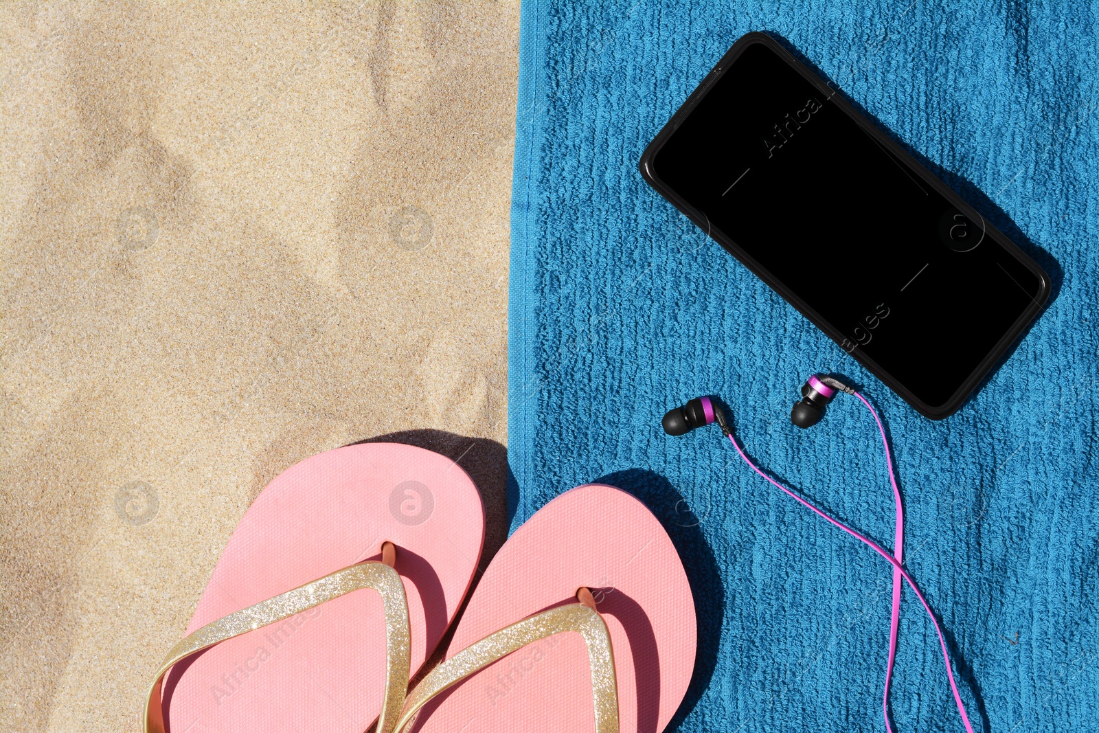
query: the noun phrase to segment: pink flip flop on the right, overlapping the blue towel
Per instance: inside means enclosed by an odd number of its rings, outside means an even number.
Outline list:
[[[660,523],[621,489],[581,486],[492,558],[397,730],[659,733],[687,692],[696,634]]]

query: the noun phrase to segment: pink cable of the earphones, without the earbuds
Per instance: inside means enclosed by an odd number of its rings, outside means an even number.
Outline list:
[[[954,702],[955,704],[957,704],[958,714],[962,715],[962,722],[965,724],[966,732],[974,733],[973,726],[969,724],[969,717],[965,712],[965,706],[962,703],[962,696],[958,692],[957,684],[955,684],[954,681],[954,673],[951,670],[951,657],[946,651],[946,640],[943,637],[943,630],[939,626],[939,621],[935,619],[935,614],[931,611],[931,607],[928,604],[928,601],[923,598],[923,593],[921,593],[920,589],[917,588],[915,581],[912,580],[912,578],[909,576],[908,571],[904,569],[902,565],[901,558],[902,558],[902,545],[903,545],[903,534],[904,534],[904,515],[901,509],[900,489],[897,487],[897,479],[893,476],[892,457],[889,453],[889,443],[886,440],[885,427],[881,425],[881,420],[878,418],[878,413],[874,410],[874,408],[866,400],[866,398],[854,390],[852,390],[851,393],[857,397],[863,402],[863,404],[866,406],[866,409],[870,411],[870,414],[874,415],[874,421],[878,424],[878,431],[881,433],[881,442],[886,447],[886,464],[889,467],[889,482],[892,484],[893,498],[897,502],[897,534],[896,534],[897,546],[893,549],[895,555],[890,555],[888,551],[881,547],[881,545],[874,542],[869,537],[859,534],[858,532],[851,529],[843,522],[836,519],[832,519],[823,511],[811,504],[809,501],[802,499],[797,493],[795,493],[793,491],[786,488],[785,486],[773,479],[770,476],[765,474],[763,470],[759,469],[758,466],[752,463],[752,459],[748,458],[747,455],[744,453],[744,451],[741,449],[741,446],[736,444],[736,440],[731,434],[729,435],[729,442],[733,444],[734,448],[736,448],[736,452],[741,455],[741,458],[744,459],[744,463],[746,463],[748,466],[752,467],[752,470],[759,474],[765,479],[770,481],[774,486],[781,489],[785,493],[793,498],[798,503],[812,510],[813,513],[818,514],[828,522],[831,522],[832,524],[840,527],[847,534],[852,535],[853,537],[859,540],[861,542],[872,547],[876,553],[886,558],[886,560],[888,560],[890,565],[892,565],[893,592],[892,592],[892,614],[889,626],[889,662],[886,666],[886,685],[885,685],[885,696],[882,701],[882,709],[886,718],[886,730],[888,730],[889,733],[892,733],[892,728],[889,725],[889,680],[892,676],[893,660],[897,656],[897,628],[900,621],[900,596],[902,587],[900,580],[903,578],[908,582],[908,585],[912,588],[912,591],[915,593],[915,597],[920,599],[921,603],[923,603],[923,608],[928,611],[928,615],[931,617],[931,623],[935,625],[935,632],[939,634],[939,644],[943,649],[943,663],[946,665],[946,677],[951,681],[951,691],[954,693]]]

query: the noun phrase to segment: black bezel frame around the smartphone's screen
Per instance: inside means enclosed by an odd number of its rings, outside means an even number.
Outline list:
[[[1008,347],[1019,337],[1023,329],[1035,319],[1042,307],[1045,304],[1050,297],[1051,282],[1050,276],[1046,275],[1037,263],[1026,255],[1022,249],[1020,249],[1011,240],[1003,235],[999,230],[997,230],[988,220],[981,216],[981,221],[985,225],[985,236],[990,237],[998,245],[1003,247],[1008,253],[1010,253],[1015,259],[1023,264],[1029,270],[1031,270],[1039,278],[1039,293],[1036,298],[1032,299],[1031,304],[1023,311],[1022,315],[1012,324],[1012,326],[1004,333],[996,345],[989,351],[989,353],[980,360],[973,373],[962,382],[957,391],[951,396],[951,398],[941,406],[931,406],[924,403],[922,400],[915,397],[903,384],[890,375],[886,369],[884,369],[874,359],[862,353],[862,347],[857,346],[847,351],[843,348],[842,344],[844,341],[843,333],[829,323],[820,313],[815,312],[807,303],[804,303],[797,293],[787,288],[780,280],[770,275],[764,267],[762,267],[757,262],[755,262],[747,253],[736,246],[736,243],[732,241],[721,231],[714,231],[710,225],[706,214],[700,211],[696,211],[690,204],[687,203],[679,195],[667,186],[664,181],[656,176],[653,168],[653,159],[656,154],[659,153],[660,148],[671,136],[671,134],[679,127],[680,124],[690,115],[698,102],[706,97],[709,90],[712,88],[713,84],[721,78],[721,76],[733,65],[736,58],[744,53],[744,51],[753,44],[763,44],[770,51],[786,62],[790,67],[797,70],[802,77],[804,77],[811,85],[821,91],[821,93],[826,95],[830,100],[835,102],[848,118],[855,121],[863,130],[866,131],[873,140],[875,140],[879,145],[886,148],[886,151],[898,157],[906,165],[908,165],[914,173],[917,173],[929,186],[939,191],[947,201],[952,202],[959,211],[963,212],[974,212],[979,216],[979,213],[973,208],[972,204],[966,202],[962,197],[959,197],[953,189],[951,189],[946,184],[941,181],[934,174],[928,170],[919,160],[909,155],[903,148],[900,147],[891,137],[886,135],[876,124],[867,120],[863,114],[861,114],[850,102],[847,102],[842,95],[837,92],[836,89],[829,86],[823,79],[817,76],[811,69],[806,67],[804,64],[795,58],[786,48],[784,48],[777,41],[770,37],[768,34],[763,32],[752,32],[747,33],[740,38],[736,43],[721,57],[721,60],[713,67],[713,69],[702,79],[699,86],[687,98],[682,105],[676,111],[671,119],[660,129],[660,132],[653,138],[653,141],[645,148],[644,154],[641,157],[639,167],[641,169],[642,177],[652,186],[660,196],[667,199],[673,206],[676,207],[684,215],[690,219],[699,229],[704,231],[708,236],[720,244],[725,251],[731,255],[736,257],[745,267],[748,268],[756,277],[767,284],[775,292],[782,297],[788,303],[790,303],[795,309],[797,309],[802,315],[804,315],[809,321],[813,323],[818,329],[824,332],[826,336],[832,338],[841,349],[850,354],[856,362],[866,367],[874,376],[885,382],[890,389],[892,389],[897,395],[899,395],[906,402],[911,404],[917,412],[930,418],[932,420],[942,420],[950,417],[965,403],[970,392],[977,387],[980,380],[988,374],[997,360],[1007,352]]]

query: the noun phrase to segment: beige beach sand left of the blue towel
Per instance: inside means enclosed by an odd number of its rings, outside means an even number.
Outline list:
[[[267,481],[382,435],[503,540],[508,2],[0,7],[0,720],[136,731]]]

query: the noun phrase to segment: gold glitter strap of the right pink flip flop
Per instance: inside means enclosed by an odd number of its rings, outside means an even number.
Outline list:
[[[559,606],[523,619],[467,646],[432,669],[406,700],[396,733],[402,733],[420,709],[440,692],[532,642],[566,631],[578,632],[588,645],[596,733],[618,733],[618,685],[611,636],[599,612],[584,603]]]

